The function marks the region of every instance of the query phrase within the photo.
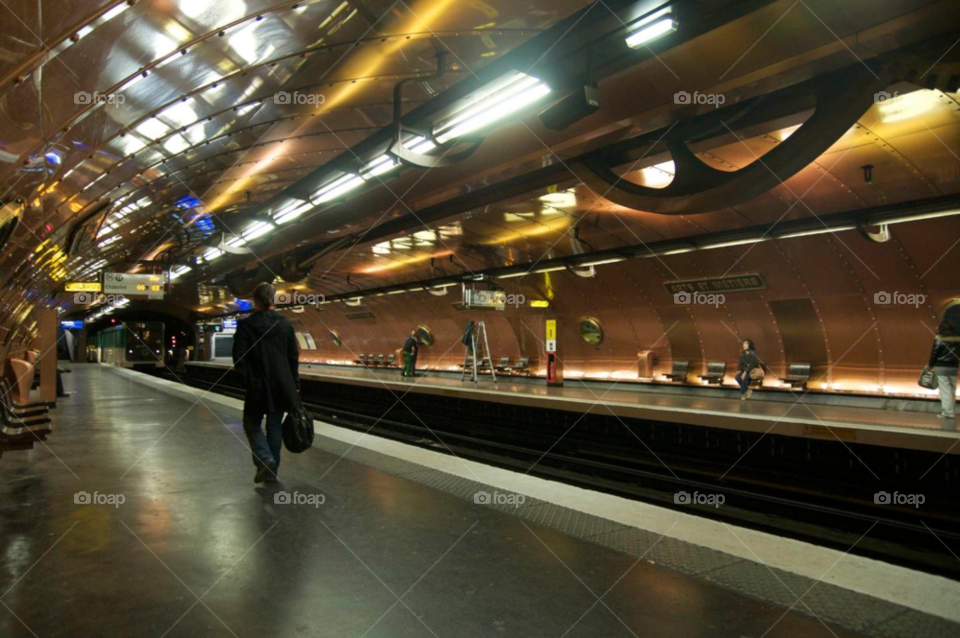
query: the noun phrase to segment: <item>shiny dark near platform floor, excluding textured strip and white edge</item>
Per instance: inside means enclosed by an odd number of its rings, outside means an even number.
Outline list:
[[[0,459],[0,636],[855,635],[318,449],[256,486],[235,409],[64,382]]]

